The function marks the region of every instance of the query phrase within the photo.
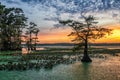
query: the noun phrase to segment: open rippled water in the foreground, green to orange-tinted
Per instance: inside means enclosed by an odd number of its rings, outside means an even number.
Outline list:
[[[59,64],[52,69],[0,71],[0,80],[120,80],[120,57]]]

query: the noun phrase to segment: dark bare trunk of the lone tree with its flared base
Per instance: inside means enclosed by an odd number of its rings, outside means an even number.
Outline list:
[[[85,40],[85,47],[84,47],[84,55],[83,58],[81,59],[82,62],[92,62],[88,55],[88,40]]]

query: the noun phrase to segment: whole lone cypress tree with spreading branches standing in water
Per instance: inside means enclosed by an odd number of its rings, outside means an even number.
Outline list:
[[[69,34],[69,36],[74,36],[74,42],[76,42],[75,50],[84,48],[84,56],[82,58],[82,62],[91,62],[92,60],[88,56],[88,44],[90,40],[99,39],[104,37],[106,34],[111,33],[111,29],[107,29],[104,27],[96,26],[97,22],[95,22],[95,18],[93,16],[85,17],[83,16],[82,22],[74,21],[74,20],[61,20],[59,23],[63,25],[67,25],[72,28],[73,32]]]

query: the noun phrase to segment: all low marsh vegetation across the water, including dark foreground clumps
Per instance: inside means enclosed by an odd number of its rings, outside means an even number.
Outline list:
[[[120,49],[90,48],[88,53],[91,59],[107,60],[110,56],[120,57]],[[83,50],[73,52],[70,48],[46,48],[22,55],[21,51],[1,51],[0,57],[0,70],[52,69],[59,64],[80,62]]]

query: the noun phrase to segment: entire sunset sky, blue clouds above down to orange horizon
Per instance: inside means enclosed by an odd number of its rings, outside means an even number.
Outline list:
[[[80,20],[81,14],[93,15],[99,26],[112,28],[113,34],[95,40],[95,43],[120,43],[119,0],[0,0],[7,7],[22,8],[28,21],[40,27],[40,43],[71,42],[71,29],[57,28],[58,20]]]

